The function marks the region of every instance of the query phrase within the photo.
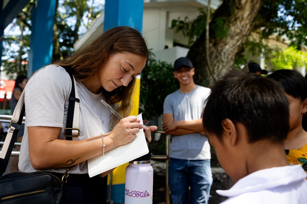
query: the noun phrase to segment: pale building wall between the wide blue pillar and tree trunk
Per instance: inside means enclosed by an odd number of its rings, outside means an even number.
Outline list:
[[[176,3],[174,2],[174,4]],[[170,29],[172,20],[177,20],[178,17],[184,20],[185,17],[188,17],[192,21],[198,15],[198,7],[144,8],[143,35],[147,40],[149,49],[152,49],[155,54],[154,58],[173,64],[177,58],[186,57],[189,49],[179,46],[173,47],[174,42],[188,46],[188,39],[183,36],[182,32],[177,33]],[[165,45],[169,49],[164,50]]]

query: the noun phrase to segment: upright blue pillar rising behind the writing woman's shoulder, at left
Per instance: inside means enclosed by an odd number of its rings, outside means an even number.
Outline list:
[[[32,11],[28,78],[51,63],[56,0],[38,0]]]

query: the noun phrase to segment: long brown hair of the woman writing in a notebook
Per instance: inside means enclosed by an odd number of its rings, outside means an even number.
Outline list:
[[[138,54],[145,57],[146,62],[149,60],[149,51],[142,34],[134,28],[119,26],[107,30],[88,46],[52,64],[71,68],[75,78],[82,82],[97,74],[109,56],[121,52]],[[120,86],[113,91],[106,91],[102,88],[102,93],[108,103],[123,117],[129,116],[131,112],[135,81],[133,78],[128,86]],[[119,102],[121,105],[116,106]],[[118,121],[116,117],[113,117],[113,125]]]

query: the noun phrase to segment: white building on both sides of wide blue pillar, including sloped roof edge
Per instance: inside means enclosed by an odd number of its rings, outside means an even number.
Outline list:
[[[221,2],[221,0],[212,0],[211,7],[216,9]],[[144,0],[142,32],[148,48],[152,49],[157,59],[173,62],[178,57],[186,56],[188,52],[186,48],[170,49],[174,42],[188,46],[188,39],[181,32],[176,33],[170,29],[172,20],[178,19],[178,17],[184,20],[185,17],[188,17],[192,21],[199,15],[198,9],[205,9],[206,5],[208,5],[208,0]],[[86,46],[95,36],[100,34],[103,31],[103,23],[104,12],[88,29],[87,33],[75,43],[74,49],[78,50]],[[165,45],[170,50],[163,51]],[[158,51],[162,51],[162,54]],[[174,53],[170,54],[172,51]]]

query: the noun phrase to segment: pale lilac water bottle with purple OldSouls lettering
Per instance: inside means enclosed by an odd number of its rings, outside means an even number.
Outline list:
[[[146,138],[147,139],[147,138]],[[148,142],[149,147],[150,143]],[[153,168],[148,154],[129,162],[126,167],[125,204],[153,203]]]

